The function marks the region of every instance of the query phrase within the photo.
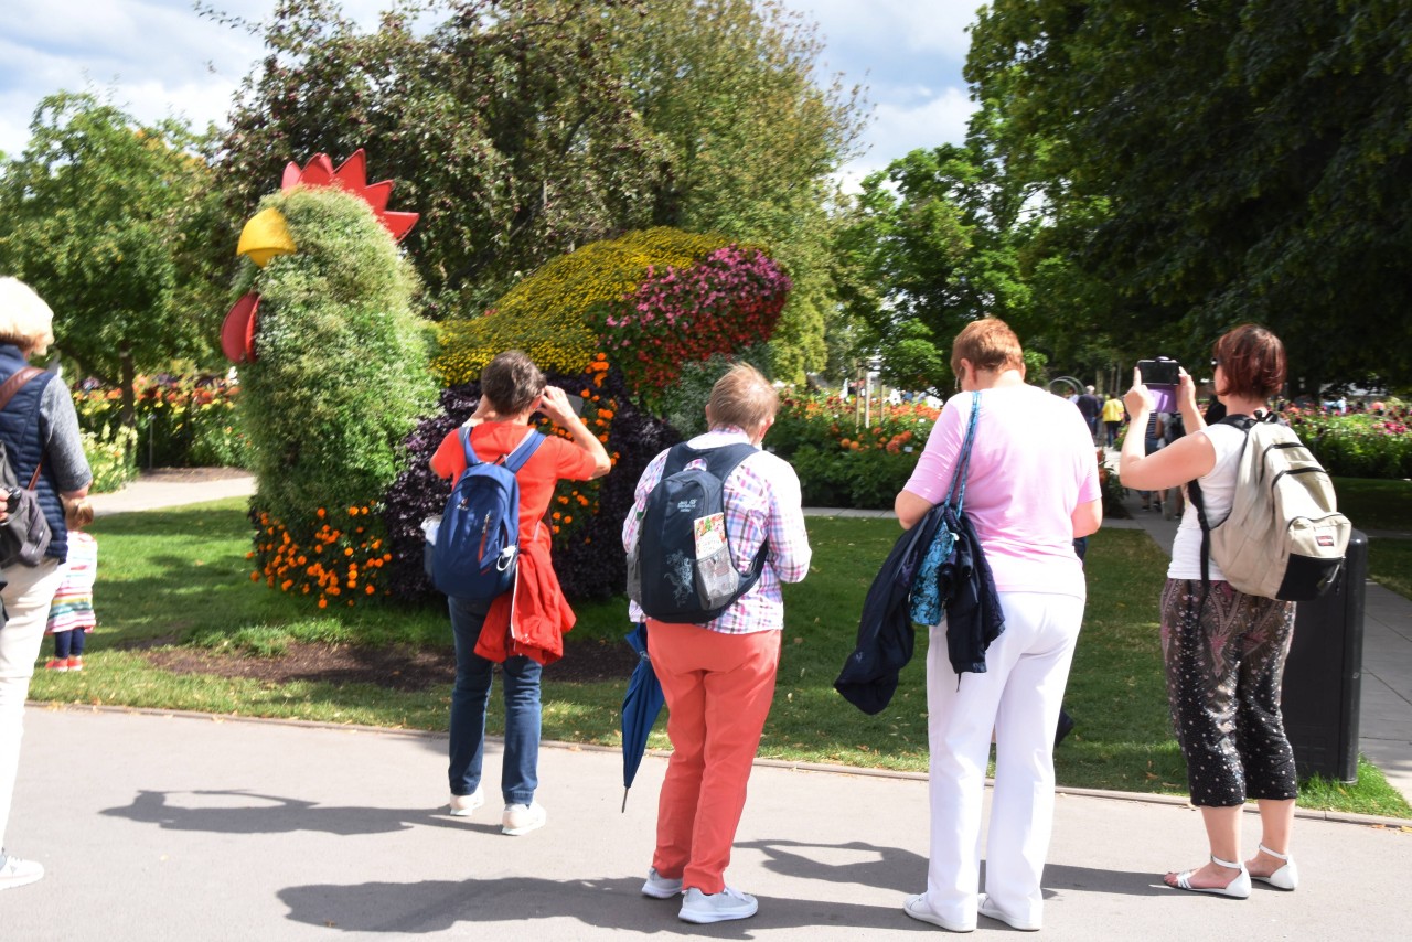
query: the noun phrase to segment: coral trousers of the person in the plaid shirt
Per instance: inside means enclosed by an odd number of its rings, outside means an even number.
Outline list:
[[[746,784],[775,695],[779,636],[647,623],[672,740],[652,866],[664,877],[681,877],[685,888],[714,894],[726,887]]]

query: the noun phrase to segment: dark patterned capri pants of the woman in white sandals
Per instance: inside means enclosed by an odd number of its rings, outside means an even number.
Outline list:
[[[1192,804],[1296,798],[1295,754],[1279,715],[1295,604],[1209,585],[1204,604],[1200,579],[1168,579],[1162,590],[1166,699]]]

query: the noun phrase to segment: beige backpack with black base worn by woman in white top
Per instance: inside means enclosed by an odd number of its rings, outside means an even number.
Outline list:
[[[1333,583],[1353,524],[1339,513],[1333,482],[1299,436],[1274,417],[1221,419],[1245,432],[1230,515],[1206,518],[1200,484],[1187,484],[1202,524],[1202,582],[1210,559],[1245,595],[1312,602]]]

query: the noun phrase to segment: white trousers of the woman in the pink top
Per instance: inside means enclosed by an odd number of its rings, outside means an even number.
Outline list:
[[[1005,630],[986,651],[984,674],[957,684],[946,657],[946,623],[926,652],[932,856],[926,905],[950,922],[974,924],[979,904],[981,801],[991,732],[995,791],[986,853],[986,893],[1015,921],[1039,925],[1039,888],[1055,811],[1055,729],[1083,621],[1083,599],[1003,592]]]

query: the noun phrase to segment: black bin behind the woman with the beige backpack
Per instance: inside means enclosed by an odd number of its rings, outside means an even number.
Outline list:
[[[1281,712],[1299,777],[1358,781],[1363,600],[1368,538],[1354,530],[1333,588],[1295,612]]]

